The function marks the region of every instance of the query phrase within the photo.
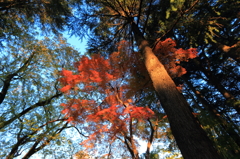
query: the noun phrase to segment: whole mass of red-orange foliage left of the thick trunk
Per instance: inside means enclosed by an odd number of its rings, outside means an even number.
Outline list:
[[[103,97],[96,99],[93,95],[89,100],[90,96],[87,96],[86,99],[70,99],[61,104],[62,113],[68,117],[69,122],[88,123],[86,130],[92,134],[82,143],[88,148],[91,148],[93,141],[101,138],[100,134],[105,134],[108,142],[114,141],[117,135],[129,133],[129,122],[133,119],[145,122],[154,117],[151,109],[135,106],[131,99],[141,88],[141,82],[133,82],[136,80],[125,77],[133,76],[134,79],[135,75],[132,74],[136,73],[136,69],[140,69],[139,72],[145,67],[137,53],[128,52],[128,45],[126,41],[119,43],[118,52],[112,53],[109,59],[97,54],[91,58],[83,56],[75,63],[78,71],[76,74],[64,69],[61,72],[62,78],[59,80],[63,84],[60,89],[62,92],[72,94],[78,89],[83,94],[96,92]],[[143,80],[142,83],[144,82]]]

